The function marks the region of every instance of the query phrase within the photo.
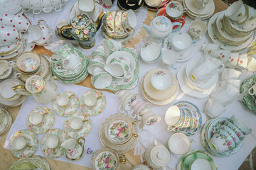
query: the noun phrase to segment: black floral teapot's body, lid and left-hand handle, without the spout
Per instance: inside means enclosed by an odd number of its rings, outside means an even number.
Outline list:
[[[63,38],[77,40],[80,47],[84,49],[89,49],[95,45],[96,32],[97,26],[95,22],[86,14],[74,16],[70,21],[70,25],[62,26],[60,28],[60,35]],[[67,33],[70,33],[70,35],[67,35]]]

